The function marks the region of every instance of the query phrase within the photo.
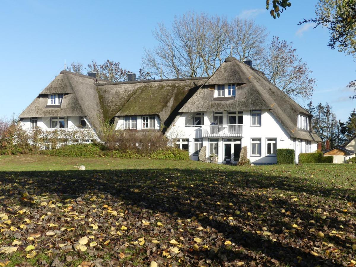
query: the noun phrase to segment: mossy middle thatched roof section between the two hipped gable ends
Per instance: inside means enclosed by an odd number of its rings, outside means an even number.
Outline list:
[[[169,126],[178,110],[207,78],[147,80],[98,85],[104,117],[159,115]]]

